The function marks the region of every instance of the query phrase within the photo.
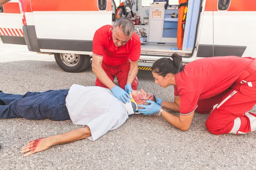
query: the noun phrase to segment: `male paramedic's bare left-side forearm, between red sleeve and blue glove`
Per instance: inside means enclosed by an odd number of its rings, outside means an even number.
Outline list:
[[[93,54],[93,62],[92,62],[92,70],[93,73],[98,77],[98,79],[105,84],[109,89],[112,89],[116,85],[111,81],[105,71],[102,69],[102,59],[103,57],[99,57]]]

